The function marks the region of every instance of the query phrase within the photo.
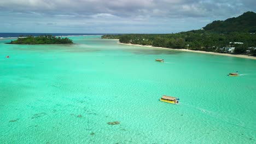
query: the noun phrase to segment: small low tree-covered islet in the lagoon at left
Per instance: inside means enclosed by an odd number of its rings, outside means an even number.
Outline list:
[[[11,40],[11,42],[7,44],[73,44],[73,41],[68,38],[60,38],[52,35],[41,35],[40,37],[33,37],[32,35],[27,35],[26,37],[23,37],[22,35],[20,35],[17,40]]]

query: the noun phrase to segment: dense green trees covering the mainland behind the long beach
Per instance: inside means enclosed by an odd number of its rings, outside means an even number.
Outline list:
[[[249,17],[249,18],[248,18]],[[139,45],[152,45],[158,47],[167,47],[173,49],[190,49],[213,52],[229,52],[228,47],[236,47],[232,53],[249,54],[255,56],[256,35],[250,33],[256,26],[255,13],[247,12],[237,18],[231,18],[236,23],[234,27],[222,27],[215,25],[213,22],[205,27],[206,30],[193,30],[174,34],[120,34],[120,35],[102,35],[104,39],[119,39],[120,43],[130,43]],[[238,22],[236,22],[236,20]],[[224,23],[226,23],[224,21]],[[239,25],[239,22],[244,22]],[[246,24],[247,23],[247,24]],[[228,24],[225,24],[228,25]],[[247,27],[248,25],[248,27]],[[239,29],[232,32],[230,29]],[[221,31],[217,31],[222,29]],[[250,30],[248,30],[250,29]],[[231,42],[231,43],[230,43]],[[240,42],[243,44],[232,44]],[[227,47],[227,48],[226,48]]]

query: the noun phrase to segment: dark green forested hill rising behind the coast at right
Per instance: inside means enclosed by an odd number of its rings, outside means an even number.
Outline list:
[[[256,13],[247,11],[238,17],[232,17],[225,21],[213,21],[203,27],[206,31],[218,33],[231,32],[256,32]]]

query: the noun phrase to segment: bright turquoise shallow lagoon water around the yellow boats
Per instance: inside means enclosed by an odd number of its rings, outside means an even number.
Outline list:
[[[0,40],[0,143],[256,142],[255,60],[71,39]]]

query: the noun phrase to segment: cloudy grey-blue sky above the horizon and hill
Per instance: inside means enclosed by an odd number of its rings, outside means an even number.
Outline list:
[[[0,32],[176,33],[256,11],[255,0],[0,0]]]

